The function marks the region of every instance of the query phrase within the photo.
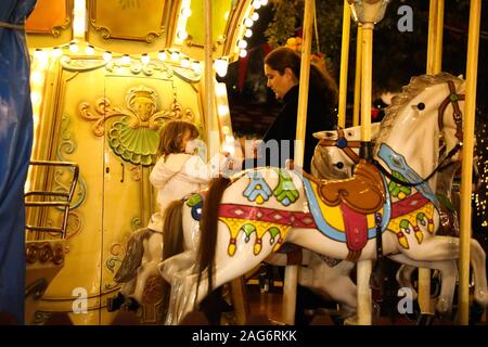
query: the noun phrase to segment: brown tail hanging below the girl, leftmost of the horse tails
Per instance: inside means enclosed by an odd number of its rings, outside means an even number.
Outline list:
[[[143,228],[134,231],[127,242],[127,252],[114,281],[117,283],[129,282],[137,275],[137,270],[141,266],[142,255],[144,254],[144,240],[153,233],[152,230]]]

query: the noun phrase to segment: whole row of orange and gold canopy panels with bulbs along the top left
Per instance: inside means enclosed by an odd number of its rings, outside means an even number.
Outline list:
[[[254,11],[268,0],[211,0],[214,56],[245,54]],[[204,59],[204,0],[38,0],[26,22],[33,49],[84,41],[102,51],[178,50]]]

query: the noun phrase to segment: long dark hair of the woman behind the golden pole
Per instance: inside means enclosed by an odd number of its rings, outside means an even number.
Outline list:
[[[283,75],[285,68],[288,67],[298,79],[300,78],[301,57],[291,48],[280,47],[272,50],[266,55],[265,64],[279,72],[280,75]],[[320,68],[314,63],[310,65],[310,88],[319,90],[320,94],[323,94],[332,107],[336,105],[338,95],[337,83],[326,69]]]

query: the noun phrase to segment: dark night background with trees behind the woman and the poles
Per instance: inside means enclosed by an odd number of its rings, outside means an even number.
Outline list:
[[[486,4],[486,3],[485,3]],[[343,26],[343,1],[317,0],[317,29],[312,53],[321,54],[326,68],[338,85]],[[398,8],[409,5],[413,10],[413,31],[401,33],[397,23],[402,14]],[[380,95],[385,91],[398,92],[412,76],[426,69],[428,7],[426,0],[391,1],[385,17],[375,26],[373,38],[373,116],[380,120],[385,106]],[[290,38],[301,36],[304,1],[270,1],[257,10],[259,20],[252,27],[253,36],[246,38],[247,55],[229,66],[228,75],[220,78],[228,88],[233,131],[237,137],[260,138],[280,111],[280,103],[266,87],[262,73],[264,56],[273,48],[290,43]],[[465,77],[468,0],[446,0],[444,21],[442,72]],[[352,123],[352,95],[356,62],[357,27],[351,23],[348,69],[348,98],[346,121]],[[288,44],[290,46],[290,44]],[[299,50],[299,48],[297,48]],[[480,183],[473,195],[474,236],[488,249],[488,223],[486,200],[488,171],[488,11],[481,10],[481,27],[478,55],[477,114],[475,149]]]

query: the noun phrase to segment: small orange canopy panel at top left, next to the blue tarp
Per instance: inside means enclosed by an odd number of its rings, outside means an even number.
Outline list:
[[[25,27],[29,47],[62,46],[73,39],[73,0],[38,0]]]

